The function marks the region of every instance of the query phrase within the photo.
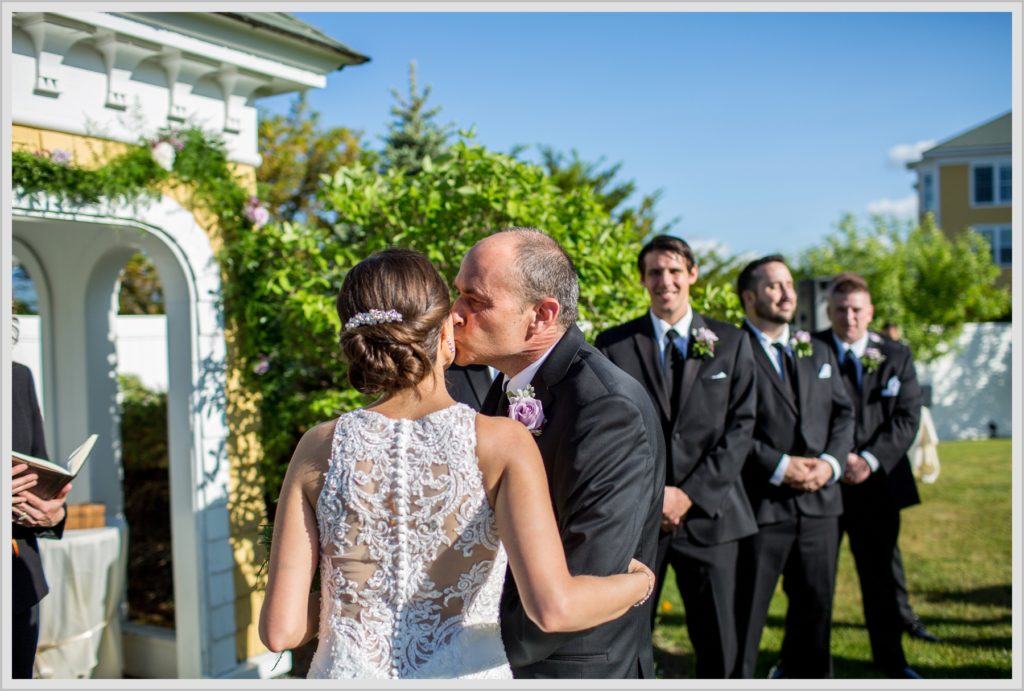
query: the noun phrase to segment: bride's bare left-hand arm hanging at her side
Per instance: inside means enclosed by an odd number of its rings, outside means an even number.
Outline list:
[[[273,652],[296,648],[316,636],[319,593],[309,592],[319,561],[313,503],[333,430],[332,423],[325,423],[302,436],[281,487],[259,617],[260,640]]]

